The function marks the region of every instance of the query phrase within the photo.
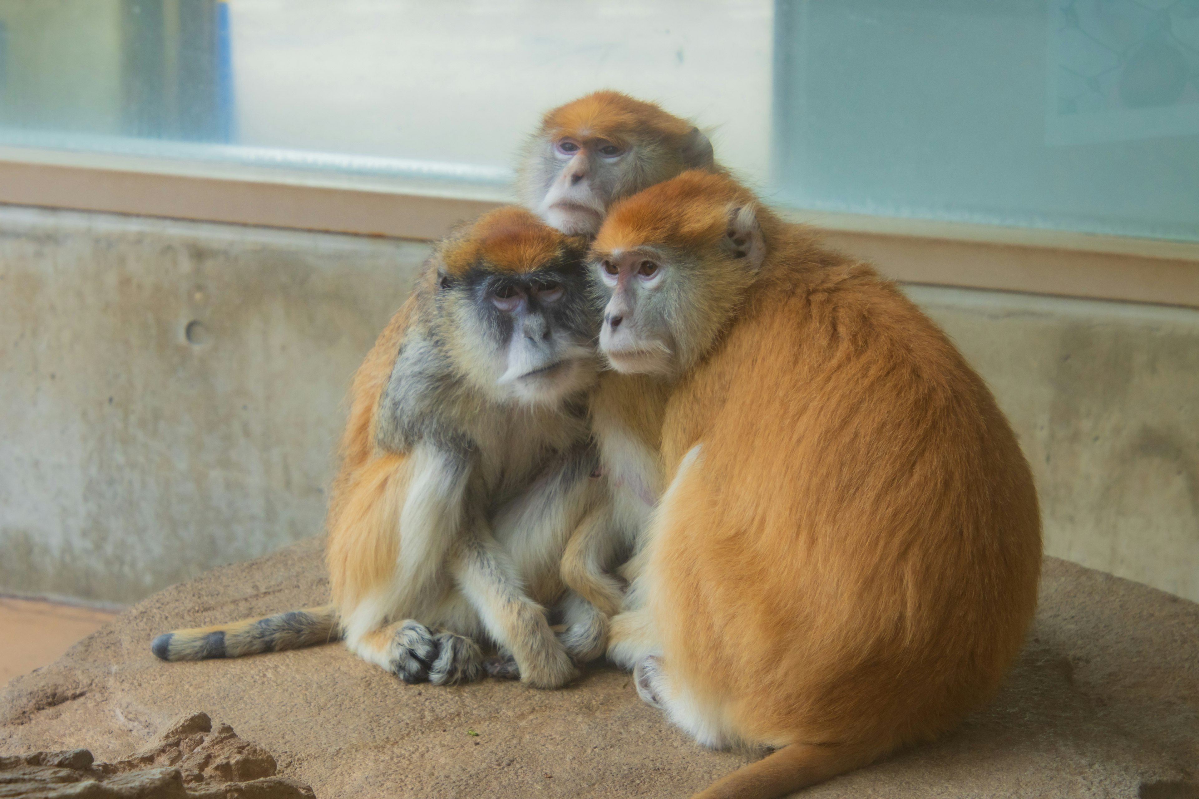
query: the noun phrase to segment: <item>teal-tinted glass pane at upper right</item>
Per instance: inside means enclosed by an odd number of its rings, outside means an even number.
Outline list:
[[[777,4],[800,207],[1199,240],[1199,0]]]

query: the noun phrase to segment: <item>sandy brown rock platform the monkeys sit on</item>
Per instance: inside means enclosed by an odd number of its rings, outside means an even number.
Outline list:
[[[560,691],[404,685],[339,644],[164,664],[157,632],[319,604],[321,541],[216,569],[129,609],[0,694],[0,755],[141,750],[203,712],[335,797],[687,797],[745,763],[709,752],[596,666]],[[930,746],[805,797],[1199,798],[1199,605],[1048,558],[996,702]]]

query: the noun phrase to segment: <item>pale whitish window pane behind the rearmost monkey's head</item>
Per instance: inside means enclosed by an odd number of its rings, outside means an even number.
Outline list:
[[[769,0],[0,0],[0,143],[505,184],[595,89],[770,158]]]

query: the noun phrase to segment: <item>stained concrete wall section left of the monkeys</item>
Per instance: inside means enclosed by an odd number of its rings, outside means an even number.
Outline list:
[[[0,592],[131,603],[320,533],[427,252],[0,207]]]

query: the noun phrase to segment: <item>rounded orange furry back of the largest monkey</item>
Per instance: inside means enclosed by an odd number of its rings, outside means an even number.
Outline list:
[[[945,334],[869,267],[813,258],[767,262],[671,399],[667,467],[701,450],[664,500],[656,616],[668,668],[737,736],[882,753],[998,686],[1036,604],[1040,512]]]

